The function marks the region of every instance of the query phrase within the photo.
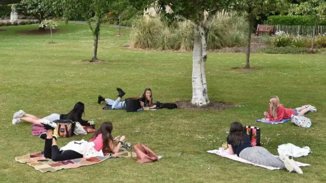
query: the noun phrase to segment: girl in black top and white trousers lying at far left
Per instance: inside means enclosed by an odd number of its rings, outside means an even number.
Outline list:
[[[20,123],[21,120],[23,120],[32,124],[41,125],[41,122],[44,121],[44,119],[49,121],[54,121],[57,119],[69,119],[75,122],[79,122],[80,125],[90,126],[92,121],[87,121],[82,119],[84,109],[85,109],[85,105],[82,102],[77,102],[74,105],[73,109],[68,114],[53,113],[43,118],[39,118],[36,117],[35,115],[27,114],[23,110],[19,110],[18,112],[14,113],[12,124],[17,125]]]

